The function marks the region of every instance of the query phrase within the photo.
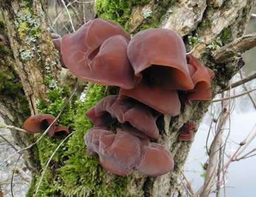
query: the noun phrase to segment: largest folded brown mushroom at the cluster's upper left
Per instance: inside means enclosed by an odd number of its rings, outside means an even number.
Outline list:
[[[127,58],[129,40],[130,35],[119,24],[94,19],[63,36],[61,53],[77,78],[131,89],[137,80]]]

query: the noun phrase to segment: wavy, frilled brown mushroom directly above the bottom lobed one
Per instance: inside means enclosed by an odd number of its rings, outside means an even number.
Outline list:
[[[119,100],[115,95],[107,96],[88,109],[86,116],[95,126],[110,126],[116,119],[119,123],[127,121],[147,136],[159,138],[157,117],[152,114],[152,109],[133,99]]]

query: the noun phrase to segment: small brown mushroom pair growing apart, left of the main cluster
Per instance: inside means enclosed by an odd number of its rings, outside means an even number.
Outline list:
[[[26,119],[26,121],[24,121],[23,128],[29,133],[40,133],[41,130],[47,129],[54,120],[55,117],[50,114],[33,115]],[[65,133],[69,133],[69,130],[66,126],[56,126],[56,124],[57,121],[51,126],[47,133],[50,138],[56,132],[64,131]]]

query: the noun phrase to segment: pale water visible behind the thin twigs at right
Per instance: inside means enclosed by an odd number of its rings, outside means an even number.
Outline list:
[[[247,33],[256,32],[256,19],[250,21],[250,24],[247,28]],[[245,61],[245,66],[242,71],[244,76],[248,76],[256,72],[255,65],[255,54],[256,48],[247,51],[243,55]],[[240,75],[235,76],[234,79],[240,80]],[[256,88],[256,79],[246,83],[248,89]],[[244,92],[245,90],[242,86],[235,88],[235,94]],[[253,99],[256,101],[256,91],[251,93]],[[220,106],[216,106],[220,108]],[[216,110],[218,111],[218,110]],[[218,114],[218,113],[216,113]],[[215,116],[216,118],[216,116]],[[210,127],[211,114],[210,109],[206,114],[203,122],[198,129],[196,134],[195,141],[192,144],[191,151],[188,156],[188,160],[184,166],[184,173],[191,181],[193,191],[197,191],[202,184],[204,179],[200,176],[203,174],[203,168],[201,164],[204,164],[208,157],[206,156],[206,138],[208,134],[208,129]],[[252,102],[247,95],[235,99],[235,109],[230,116],[230,137],[232,141],[228,141],[226,153],[232,154],[239,147],[239,143],[245,139],[248,133],[252,130],[253,126],[256,124],[256,109],[253,108]],[[228,128],[228,124],[226,125]],[[227,135],[228,131],[225,131]],[[210,134],[210,142],[213,139],[213,135]],[[238,144],[236,144],[238,143]],[[210,144],[208,144],[209,146]],[[247,153],[251,149],[256,148],[256,139],[252,141],[250,146],[247,147]],[[255,152],[256,153],[256,152]],[[242,154],[243,155],[243,154]],[[227,157],[225,157],[227,161]],[[255,186],[256,186],[256,156],[252,158],[243,159],[240,161],[232,162],[228,168],[227,174],[227,183],[226,183],[226,195],[233,197],[247,196],[255,197]],[[214,187],[213,189],[215,189]],[[210,196],[216,196],[216,194],[211,194]],[[220,196],[224,196],[223,189],[221,189]]]

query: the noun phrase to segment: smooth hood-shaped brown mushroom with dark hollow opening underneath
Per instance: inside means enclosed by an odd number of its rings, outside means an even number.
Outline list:
[[[166,89],[193,89],[181,37],[170,29],[146,29],[129,42],[128,58],[136,76]]]

